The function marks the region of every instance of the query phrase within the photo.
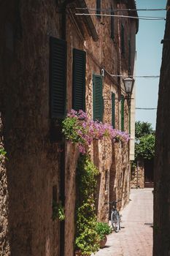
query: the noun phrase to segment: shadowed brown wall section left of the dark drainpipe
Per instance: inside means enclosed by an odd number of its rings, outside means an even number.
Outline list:
[[[53,186],[60,194],[60,152],[50,143],[49,37],[59,37],[54,1],[1,7],[1,255],[58,255]],[[2,199],[3,197],[3,199]]]

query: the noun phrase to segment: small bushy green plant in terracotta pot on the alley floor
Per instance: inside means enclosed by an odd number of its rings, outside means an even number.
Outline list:
[[[103,248],[104,245],[107,243],[107,235],[112,233],[112,227],[110,227],[105,222],[97,222],[96,223],[96,232],[100,237],[100,248]]]

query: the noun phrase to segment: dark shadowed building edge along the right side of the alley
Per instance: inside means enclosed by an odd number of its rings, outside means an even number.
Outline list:
[[[170,255],[170,1],[167,1],[155,140],[153,255]]]

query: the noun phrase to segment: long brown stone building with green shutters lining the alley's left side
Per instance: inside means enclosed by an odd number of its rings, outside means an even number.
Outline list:
[[[61,133],[66,111],[134,129],[123,79],[112,74],[134,74],[138,20],[102,9],[137,16],[127,10],[134,0],[1,1],[1,255],[73,255],[79,152]],[[107,221],[109,200],[128,203],[130,146],[98,141],[90,154],[100,171],[98,219]],[[52,218],[58,200],[65,222]]]

